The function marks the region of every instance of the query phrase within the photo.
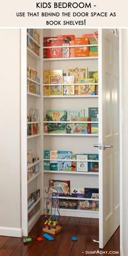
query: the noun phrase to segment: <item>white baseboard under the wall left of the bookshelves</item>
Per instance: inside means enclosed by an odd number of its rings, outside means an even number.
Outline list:
[[[0,235],[5,236],[15,236],[16,238],[22,237],[21,228],[11,228],[11,227],[0,227]]]

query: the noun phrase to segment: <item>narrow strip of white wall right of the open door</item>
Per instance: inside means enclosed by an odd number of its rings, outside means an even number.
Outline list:
[[[123,109],[123,172],[122,172],[122,205],[121,205],[121,223],[120,223],[120,249],[121,255],[126,256],[128,252],[127,230],[128,230],[128,29],[121,30],[121,61],[122,61],[122,109]],[[121,198],[120,198],[121,202]]]

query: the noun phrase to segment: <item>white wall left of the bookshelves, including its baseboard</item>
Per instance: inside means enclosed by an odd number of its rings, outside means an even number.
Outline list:
[[[20,236],[20,29],[0,38],[0,235]]]

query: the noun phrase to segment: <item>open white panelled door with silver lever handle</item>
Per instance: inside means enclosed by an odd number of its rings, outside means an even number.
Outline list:
[[[101,44],[101,45],[100,45]],[[99,31],[99,247],[119,226],[119,40]],[[104,148],[104,144],[113,147]]]

